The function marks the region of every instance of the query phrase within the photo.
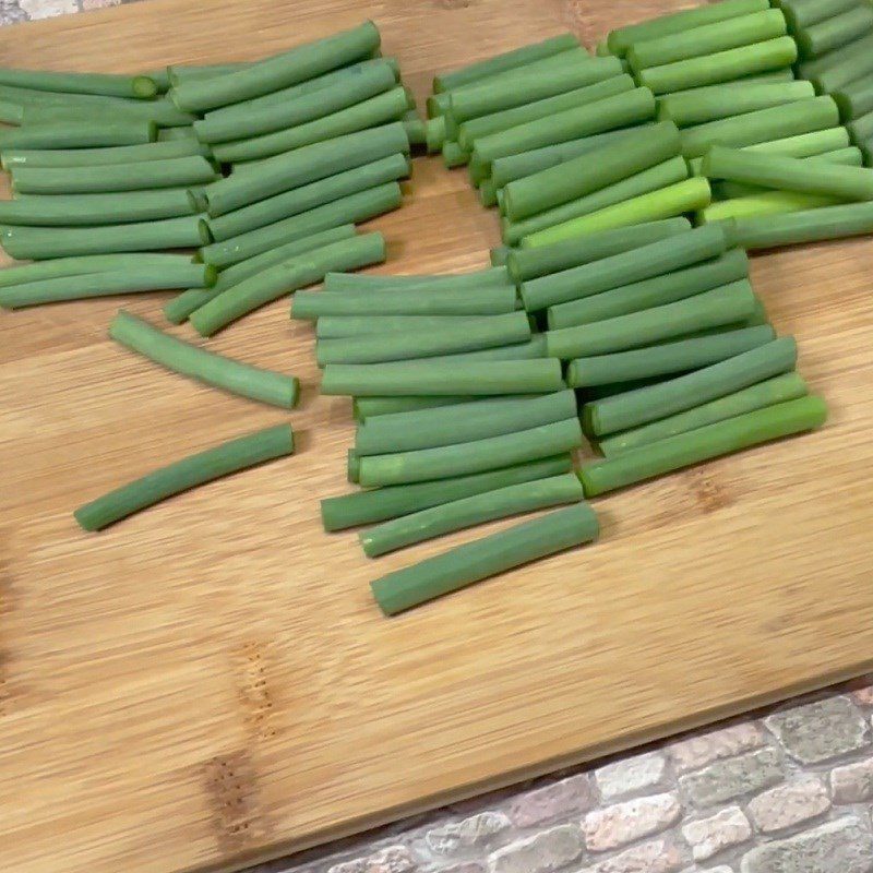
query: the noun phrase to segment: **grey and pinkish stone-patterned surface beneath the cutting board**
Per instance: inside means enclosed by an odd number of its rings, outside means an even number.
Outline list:
[[[0,24],[120,0],[0,0]],[[871,873],[873,677],[250,873]]]

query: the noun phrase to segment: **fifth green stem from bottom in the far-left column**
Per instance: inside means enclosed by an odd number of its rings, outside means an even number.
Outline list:
[[[219,178],[202,155],[77,167],[14,167],[12,189],[20,194],[93,194],[204,184]]]

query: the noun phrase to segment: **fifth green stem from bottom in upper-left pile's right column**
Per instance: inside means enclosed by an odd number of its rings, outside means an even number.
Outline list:
[[[355,167],[326,179],[294,188],[282,194],[251,203],[240,210],[208,219],[213,239],[222,242],[247,234],[259,227],[283,218],[314,210],[339,198],[357,194],[386,182],[397,181],[409,175],[410,162],[404,154],[380,158],[361,167]]]

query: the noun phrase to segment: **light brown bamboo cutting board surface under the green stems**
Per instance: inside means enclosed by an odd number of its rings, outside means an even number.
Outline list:
[[[435,69],[663,2],[153,0],[0,32],[9,65],[254,58],[358,23],[423,99]],[[384,272],[486,263],[493,215],[417,159]],[[756,258],[828,427],[598,500],[601,541],[385,620],[378,562],[321,531],[349,404],[287,301],[210,347],[304,383],[299,452],[100,535],[71,511],[284,416],[106,337],[118,300],[0,315],[0,868],[236,869],[714,720],[873,665],[873,241]],[[164,295],[123,304],[160,322]],[[191,336],[190,331],[181,331]],[[492,526],[489,529],[493,529]]]

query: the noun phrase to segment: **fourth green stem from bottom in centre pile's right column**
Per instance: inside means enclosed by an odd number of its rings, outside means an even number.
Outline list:
[[[593,358],[576,358],[567,369],[567,383],[584,388],[673,375],[742,355],[775,338],[773,327],[762,324]]]

